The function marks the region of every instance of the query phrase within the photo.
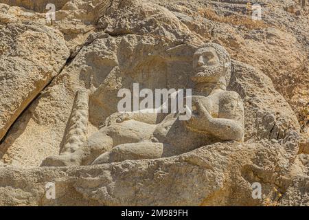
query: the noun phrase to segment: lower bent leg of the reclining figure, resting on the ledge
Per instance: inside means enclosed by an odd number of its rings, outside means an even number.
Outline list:
[[[122,162],[126,159],[155,159],[163,157],[163,144],[152,142],[139,142],[133,144],[121,144],[111,151],[103,153],[92,164],[106,164]]]

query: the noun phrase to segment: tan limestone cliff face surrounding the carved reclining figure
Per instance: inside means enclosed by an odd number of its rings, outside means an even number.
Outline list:
[[[309,5],[260,3],[262,21],[238,0],[0,0],[0,205],[308,206]],[[39,167],[68,136],[82,145],[98,132],[119,89],[192,88],[194,52],[207,42],[231,55],[227,90],[244,103],[244,142]]]

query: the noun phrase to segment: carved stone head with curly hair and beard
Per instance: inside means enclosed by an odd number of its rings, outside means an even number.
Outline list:
[[[231,78],[231,58],[224,47],[216,43],[206,43],[196,50],[193,57],[196,83],[218,83],[227,87]]]

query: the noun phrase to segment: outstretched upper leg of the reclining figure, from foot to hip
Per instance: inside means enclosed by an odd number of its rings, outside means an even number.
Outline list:
[[[70,151],[70,147],[69,151],[58,156],[47,157],[41,166],[88,165],[102,153],[110,151],[113,146],[150,139],[154,129],[154,125],[135,120],[111,124],[91,135],[84,146],[73,148],[74,151]]]

